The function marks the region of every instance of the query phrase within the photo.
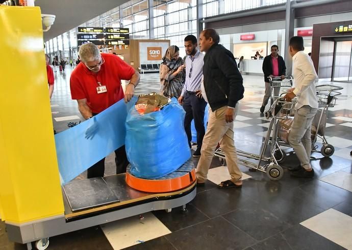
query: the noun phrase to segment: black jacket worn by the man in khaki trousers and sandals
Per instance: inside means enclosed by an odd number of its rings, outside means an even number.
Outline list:
[[[243,79],[231,51],[214,44],[204,57],[204,88],[211,109],[235,107],[243,98]]]

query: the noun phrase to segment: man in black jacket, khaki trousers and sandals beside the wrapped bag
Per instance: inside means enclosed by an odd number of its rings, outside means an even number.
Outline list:
[[[243,79],[233,54],[218,44],[219,40],[219,35],[213,29],[206,29],[199,35],[199,50],[207,53],[203,66],[203,96],[211,111],[196,169],[197,185],[205,183],[214,151],[220,142],[231,178],[222,181],[218,187],[239,188],[242,187],[242,173],[237,165],[233,122],[238,101],[243,98]]]

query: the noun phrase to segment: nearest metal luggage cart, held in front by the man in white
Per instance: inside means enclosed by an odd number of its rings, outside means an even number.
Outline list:
[[[292,102],[286,102],[283,97],[277,98],[274,103],[274,109],[273,109],[273,118],[270,121],[268,131],[266,132],[266,137],[264,141],[264,145],[262,147],[262,150],[260,154],[254,154],[254,153],[248,153],[242,150],[237,150],[237,155],[246,157],[247,160],[238,158],[238,162],[241,163],[242,165],[252,168],[261,172],[264,172],[267,174],[267,176],[272,179],[272,180],[279,180],[282,178],[284,174],[283,168],[279,165],[278,160],[276,160],[276,157],[281,157],[281,155],[285,155],[284,152],[282,152],[278,142],[276,141],[275,138],[278,138],[278,123],[280,119],[286,119],[289,115],[283,116],[281,114],[282,110],[291,110],[293,103]],[[280,114],[280,116],[279,116]],[[273,134],[274,140],[270,140],[270,134]],[[271,143],[270,146],[270,156],[267,157],[265,156],[265,152],[268,148],[268,144]],[[214,155],[219,157],[220,159],[225,159],[225,155],[222,152],[221,148],[218,148],[215,150]],[[282,156],[284,157],[284,156]],[[249,162],[249,159],[254,159],[258,161],[258,164]],[[282,160],[279,158],[279,160]],[[264,165],[262,163],[265,162]]]

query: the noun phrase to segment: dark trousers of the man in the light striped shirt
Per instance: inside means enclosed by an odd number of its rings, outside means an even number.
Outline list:
[[[202,148],[203,138],[205,134],[204,128],[204,112],[207,102],[203,98],[198,98],[195,93],[187,92],[184,102],[183,109],[186,111],[185,116],[185,130],[188,138],[188,144],[191,147],[192,132],[191,122],[194,120],[194,127],[197,131],[197,149]]]

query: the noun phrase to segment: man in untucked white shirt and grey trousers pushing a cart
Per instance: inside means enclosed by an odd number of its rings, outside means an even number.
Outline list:
[[[312,59],[303,52],[303,38],[291,37],[289,53],[292,56],[293,88],[286,94],[287,101],[297,97],[294,119],[288,136],[288,142],[296,153],[300,166],[290,168],[291,176],[298,178],[312,178],[314,170],[310,165],[312,150],[311,127],[315,113],[318,110],[315,82],[318,76]]]

